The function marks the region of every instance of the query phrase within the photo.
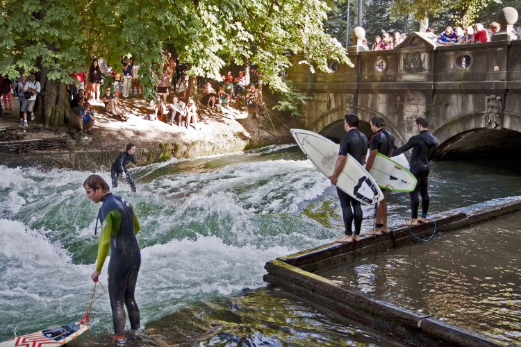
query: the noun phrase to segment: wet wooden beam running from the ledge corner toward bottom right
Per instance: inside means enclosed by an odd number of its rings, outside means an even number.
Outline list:
[[[268,271],[264,277],[267,282],[406,341],[414,336],[415,339],[422,340],[421,345],[438,344],[439,339],[441,344],[456,346],[500,346],[477,332],[342,287],[332,280],[303,271],[281,260],[267,262],[265,269]]]

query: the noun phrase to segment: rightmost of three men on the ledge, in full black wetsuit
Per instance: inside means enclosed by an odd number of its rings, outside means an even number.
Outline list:
[[[411,154],[411,174],[417,180],[417,185],[411,194],[411,219],[408,224],[417,226],[419,223],[427,223],[427,212],[429,211],[429,193],[427,192],[427,183],[429,176],[429,159],[431,154],[438,147],[438,139],[427,130],[429,122],[427,118],[417,117],[416,128],[418,135],[411,137],[406,144],[392,152],[392,156],[400,155],[409,149],[413,149]],[[422,196],[422,217],[418,217],[418,192]]]

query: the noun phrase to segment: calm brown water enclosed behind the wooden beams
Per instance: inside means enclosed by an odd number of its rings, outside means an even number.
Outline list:
[[[367,294],[521,344],[521,212],[320,273]]]

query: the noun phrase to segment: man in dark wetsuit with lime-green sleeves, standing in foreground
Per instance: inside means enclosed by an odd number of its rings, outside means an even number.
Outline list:
[[[104,228],[98,246],[96,271],[92,280],[98,281],[105,258],[110,247],[108,262],[108,294],[112,307],[114,324],[113,339],[123,339],[125,328],[125,310],[129,313],[131,329],[140,328],[140,311],[135,303],[134,291],[141,265],[141,253],[135,234],[140,230],[140,223],[135,217],[132,205],[124,198],[110,193],[110,188],[99,175],[90,175],[83,183],[88,198],[93,203],[103,202],[98,218]],[[96,221],[96,228],[97,228]]]

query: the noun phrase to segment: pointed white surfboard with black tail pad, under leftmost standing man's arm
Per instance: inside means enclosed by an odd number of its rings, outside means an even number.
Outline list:
[[[324,176],[331,176],[338,158],[338,144],[313,131],[291,129],[291,133],[315,167]],[[383,199],[383,194],[374,179],[349,154],[336,186],[365,205],[374,205]]]

